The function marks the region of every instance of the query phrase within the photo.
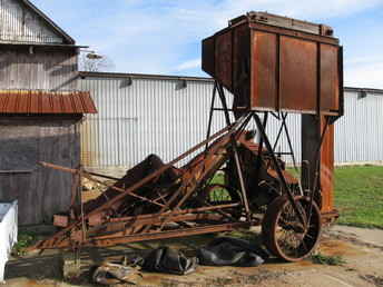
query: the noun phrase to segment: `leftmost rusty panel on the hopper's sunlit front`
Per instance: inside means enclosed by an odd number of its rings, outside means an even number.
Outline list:
[[[252,107],[278,109],[278,37],[253,32]]]

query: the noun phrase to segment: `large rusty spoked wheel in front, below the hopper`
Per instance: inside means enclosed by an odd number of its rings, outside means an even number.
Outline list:
[[[315,249],[322,226],[321,211],[315,202],[311,208],[306,197],[295,197],[294,200],[306,218],[306,227],[301,224],[293,205],[285,197],[278,197],[268,206],[262,224],[268,250],[287,261],[302,260]]]

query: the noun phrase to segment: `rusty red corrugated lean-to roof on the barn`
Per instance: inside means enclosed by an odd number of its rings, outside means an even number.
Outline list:
[[[97,113],[87,91],[0,90],[0,115]]]

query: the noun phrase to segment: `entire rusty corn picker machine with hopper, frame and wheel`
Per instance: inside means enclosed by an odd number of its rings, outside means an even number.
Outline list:
[[[42,162],[73,174],[75,185],[70,209],[55,216],[59,231],[35,248],[105,247],[262,225],[273,255],[301,260],[317,245],[322,226],[337,217],[333,123],[343,115],[342,67],[342,47],[327,26],[264,12],[233,19],[203,41],[203,69],[215,79],[206,140],[168,164],[149,156],[85,204],[80,178],[105,185],[99,178],[109,177]],[[215,111],[227,125],[212,135]],[[289,112],[302,115],[301,176],[288,172],[281,157],[297,165]],[[269,117],[281,123],[273,144]],[[276,152],[282,135],[287,152]]]

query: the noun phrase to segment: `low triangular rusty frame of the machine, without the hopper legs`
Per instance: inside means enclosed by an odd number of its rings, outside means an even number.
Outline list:
[[[230,216],[229,212],[225,211],[233,208],[242,208],[242,202],[233,202],[227,205],[218,205],[218,206],[205,206],[199,208],[187,208],[180,209],[183,204],[187,201],[193,192],[197,190],[199,187],[205,185],[215,174],[215,171],[220,168],[220,166],[225,162],[227,155],[223,158],[216,159],[214,162],[215,154],[219,149],[228,149],[229,147],[233,148],[233,145],[236,142],[236,139],[242,133],[242,131],[247,126],[248,121],[251,120],[251,115],[247,117],[243,117],[238,121],[228,125],[223,130],[216,132],[215,135],[208,137],[205,141],[198,144],[189,151],[185,152],[184,155],[177,157],[175,160],[170,161],[169,164],[165,165],[163,168],[158,169],[156,172],[148,175],[147,177],[139,180],[137,184],[132,185],[129,188],[119,188],[116,186],[109,186],[109,188],[119,191],[120,195],[111,198],[102,206],[99,206],[91,210],[89,214],[84,214],[84,204],[81,202],[81,215],[77,218],[77,220],[72,224],[66,226],[62,230],[58,231],[51,238],[38,243],[33,248],[38,249],[50,249],[50,248],[79,248],[81,246],[108,246],[116,243],[131,243],[131,241],[140,241],[140,240],[148,240],[154,238],[169,238],[169,237],[178,237],[178,236],[186,236],[186,235],[197,235],[197,234],[206,234],[206,232],[219,232],[224,230],[233,230],[237,227],[248,227],[254,224],[258,224],[257,220],[252,219],[249,217],[248,206],[245,208],[247,210],[246,220],[235,219]],[[175,164],[184,159],[185,157],[189,156],[190,154],[195,152],[199,148],[208,145],[213,140],[213,145],[209,146],[208,149],[205,149],[203,154],[199,154],[195,158],[195,162],[198,164],[198,160],[202,157],[202,161],[199,161],[199,171],[202,171],[202,176],[199,180],[196,180],[194,177],[194,169],[186,170],[180,177],[183,177],[181,185],[176,191],[166,200],[164,198],[150,199],[144,196],[136,194],[136,190],[143,187],[144,185],[148,184],[150,180],[158,178],[161,174],[164,174],[167,169],[171,168]],[[235,150],[235,148],[234,148]],[[234,151],[236,152],[236,151]],[[192,160],[193,162],[193,160]],[[202,164],[200,164],[202,162]],[[212,165],[213,162],[213,165]],[[75,202],[76,190],[78,188],[78,179],[80,177],[88,178],[95,182],[105,185],[102,181],[92,177],[101,177],[99,174],[90,174],[84,170],[82,168],[79,169],[70,169],[60,167],[57,165],[41,162],[42,166],[48,168],[58,169],[61,171],[70,172],[75,176],[75,186],[72,188],[72,202]],[[110,178],[110,177],[107,177]],[[122,217],[122,218],[110,218],[109,220],[105,220],[102,225],[114,225],[120,224],[124,226],[121,230],[115,230],[111,235],[90,235],[89,229],[86,226],[86,221],[88,225],[92,220],[102,220],[97,217],[100,212],[108,210],[118,200],[122,200],[125,197],[131,197],[139,200],[143,200],[149,205],[159,207],[160,210],[158,212],[154,212],[151,215],[138,215],[134,217]],[[244,194],[243,199],[247,202],[246,195]],[[164,202],[159,202],[159,200],[164,200]],[[246,205],[246,204],[245,204]],[[206,214],[207,211],[207,214]],[[213,212],[215,211],[215,212]],[[202,226],[190,227],[188,225],[189,221],[199,221],[203,222]],[[209,224],[213,221],[214,224]],[[164,230],[164,227],[168,222],[178,222],[180,224],[179,227],[175,230]],[[186,227],[185,227],[186,226]]]

